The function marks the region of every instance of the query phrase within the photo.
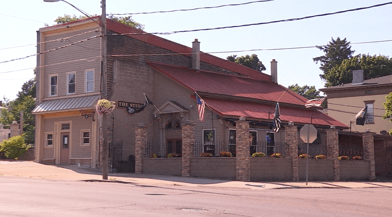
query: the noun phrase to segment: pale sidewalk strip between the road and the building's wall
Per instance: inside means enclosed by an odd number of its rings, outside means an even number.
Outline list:
[[[109,173],[108,179],[102,180],[102,170],[99,169],[75,165],[45,165],[33,161],[0,161],[1,176],[253,190],[276,188],[392,188],[392,179],[388,181],[317,181],[308,182],[308,185],[306,185],[305,182],[243,182],[155,174]]]

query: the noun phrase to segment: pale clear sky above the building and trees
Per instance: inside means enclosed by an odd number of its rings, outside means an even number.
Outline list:
[[[239,4],[252,0],[107,0],[107,13],[139,13],[212,7],[225,4]],[[67,0],[67,2],[89,14],[101,14],[100,0]],[[133,15],[132,18],[145,25],[146,32],[171,32],[250,23],[270,22],[289,18],[301,18],[324,13],[333,13],[359,7],[387,3],[387,0],[274,0],[240,6],[215,9],[200,9],[159,14]],[[351,43],[392,39],[392,4],[334,14],[306,20],[272,23],[250,27],[223,30],[187,32],[160,36],[176,43],[191,47],[197,38],[203,52],[237,51],[325,45],[331,37],[347,38]],[[2,1],[0,9],[0,62],[36,54],[35,45],[10,48],[36,43],[36,31],[44,23],[54,24],[54,19],[64,14],[82,15],[65,2],[44,2],[43,0]],[[6,16],[8,15],[8,16]],[[14,17],[11,17],[14,16]],[[15,18],[18,17],[18,18]],[[21,19],[24,18],[24,19]],[[25,20],[28,19],[28,20]],[[34,21],[31,21],[34,20]],[[39,21],[39,22],[36,22]],[[357,54],[392,56],[392,42],[354,44]],[[278,83],[283,86],[298,83],[323,88],[319,64],[313,57],[324,53],[317,48],[294,50],[231,52],[213,54],[226,58],[236,54],[257,54],[270,74],[270,61],[278,61]],[[34,77],[36,57],[0,63],[0,98],[13,100],[24,82]],[[31,68],[31,69],[27,69]],[[22,70],[27,69],[27,70]],[[17,72],[9,72],[22,70]]]

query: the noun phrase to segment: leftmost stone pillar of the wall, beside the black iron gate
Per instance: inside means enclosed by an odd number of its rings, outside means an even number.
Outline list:
[[[147,127],[140,123],[135,128],[135,173],[142,173],[143,158],[146,157],[147,151]]]

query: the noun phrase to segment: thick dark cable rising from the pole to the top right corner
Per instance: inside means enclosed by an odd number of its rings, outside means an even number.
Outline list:
[[[314,18],[314,17],[319,17],[319,16],[328,16],[328,15],[332,15],[332,14],[340,14],[340,13],[346,13],[346,12],[350,12],[350,11],[359,11],[359,10],[363,10],[363,9],[369,9],[372,7],[380,7],[380,6],[384,6],[384,5],[388,5],[388,4],[392,4],[392,2],[387,2],[384,4],[378,4],[378,5],[372,5],[369,7],[360,7],[360,8],[349,9],[349,10],[345,10],[345,11],[338,11],[338,12],[334,12],[334,13],[318,14],[318,15],[312,15],[312,16],[305,16],[305,17],[301,17],[301,18],[290,18],[290,19],[286,19],[286,20],[275,20],[275,21],[263,22],[263,23],[251,23],[251,24],[244,24],[244,25],[225,26],[225,27],[216,27],[216,28],[207,28],[207,29],[180,30],[180,31],[172,31],[172,32],[152,32],[152,33],[145,32],[145,33],[128,33],[128,34],[109,34],[109,35],[145,35],[145,34],[170,35],[170,34],[181,33],[181,32],[197,32],[197,31],[205,31],[205,30],[229,29],[229,28],[247,27],[247,26],[263,25],[263,24],[270,24],[270,23],[280,23],[280,22],[304,20],[304,19],[309,19],[309,18]]]

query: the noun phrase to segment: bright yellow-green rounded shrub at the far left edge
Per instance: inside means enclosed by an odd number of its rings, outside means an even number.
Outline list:
[[[4,155],[7,158],[18,159],[19,156],[27,151],[27,145],[23,136],[13,136],[0,144],[0,151],[4,151]]]

